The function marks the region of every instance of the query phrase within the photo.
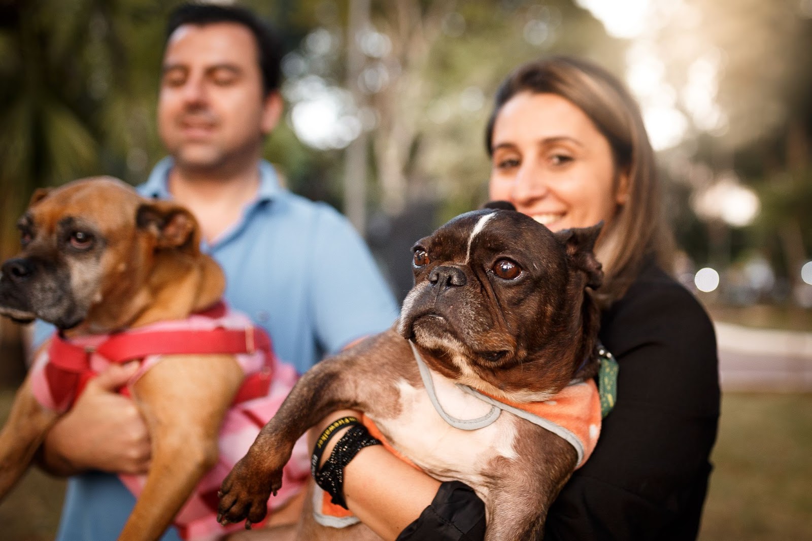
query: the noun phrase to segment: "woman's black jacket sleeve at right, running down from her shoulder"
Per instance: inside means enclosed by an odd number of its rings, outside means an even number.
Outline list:
[[[604,314],[601,337],[620,363],[617,404],[545,539],[696,539],[719,418],[711,321],[650,264]]]

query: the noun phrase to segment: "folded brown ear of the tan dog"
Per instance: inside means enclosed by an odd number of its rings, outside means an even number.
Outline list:
[[[136,226],[152,232],[157,248],[197,250],[200,227],[191,212],[171,201],[142,203],[136,211]]]

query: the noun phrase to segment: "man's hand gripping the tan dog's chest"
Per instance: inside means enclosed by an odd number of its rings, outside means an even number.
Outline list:
[[[45,470],[56,475],[84,470],[146,473],[149,431],[135,403],[115,392],[137,370],[136,362],[112,365],[89,381],[73,409],[45,436]]]

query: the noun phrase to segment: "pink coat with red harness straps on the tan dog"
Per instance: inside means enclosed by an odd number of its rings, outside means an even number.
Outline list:
[[[214,341],[218,344],[207,345],[206,335],[217,336]],[[195,338],[190,343],[188,338],[192,336]],[[159,344],[150,344],[153,338],[152,341]],[[123,348],[109,347],[116,342],[126,345]],[[115,335],[81,336],[71,340],[54,335],[51,347],[44,348],[32,366],[34,396],[45,408],[64,412],[70,409],[84,384],[95,374],[105,370],[113,362],[140,358],[140,370],[120,390],[122,394],[128,395],[129,387],[162,358],[160,353],[132,357],[137,354],[134,351],[159,351],[162,354],[214,353],[212,348],[219,348],[221,353],[235,353],[246,380],[238,392],[235,404],[223,419],[217,465],[201,479],[175,517],[174,524],[179,535],[192,541],[219,539],[229,531],[242,528],[239,524],[227,527],[218,524],[217,491],[222,479],[248,452],[261,427],[274,416],[298,379],[292,366],[279,362],[274,357],[270,350],[270,339],[264,331],[253,327],[244,314],[222,305],[205,313],[192,314],[183,320],[158,322]],[[120,353],[121,349],[127,349],[128,353]],[[116,354],[108,353],[108,357],[102,355],[113,350]],[[54,359],[59,357],[60,360],[52,361],[52,353]],[[285,466],[282,488],[277,496],[271,496],[268,500],[269,516],[274,509],[279,509],[302,490],[309,473],[309,452],[303,438],[296,443],[291,460]],[[121,474],[119,478],[136,497],[146,481],[145,475]]]

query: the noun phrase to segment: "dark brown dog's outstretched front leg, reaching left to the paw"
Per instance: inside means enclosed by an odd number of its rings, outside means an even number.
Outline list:
[[[404,353],[409,353],[408,342],[390,331],[308,370],[222,482],[218,519],[246,520],[248,526],[260,522],[270,493],[282,486],[282,470],[296,440],[327,413],[346,408],[374,413],[391,406],[387,397],[397,400],[397,393],[380,392],[383,387],[376,382],[385,366],[396,370],[389,360]],[[397,378],[391,375],[394,383]]]

